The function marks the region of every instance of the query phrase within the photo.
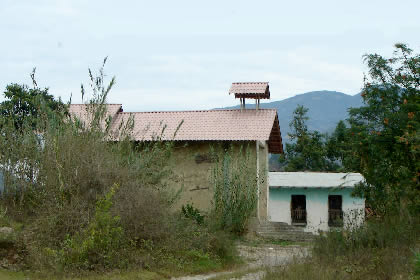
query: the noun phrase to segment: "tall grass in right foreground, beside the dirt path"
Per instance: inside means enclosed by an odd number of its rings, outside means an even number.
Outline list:
[[[416,279],[419,237],[418,217],[369,220],[319,236],[312,257],[270,271],[266,279]]]

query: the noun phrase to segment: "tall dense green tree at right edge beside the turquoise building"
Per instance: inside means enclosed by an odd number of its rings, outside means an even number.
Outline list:
[[[351,145],[366,184],[357,188],[379,212],[420,212],[420,56],[396,44],[393,57],[364,56],[364,106],[350,110]]]

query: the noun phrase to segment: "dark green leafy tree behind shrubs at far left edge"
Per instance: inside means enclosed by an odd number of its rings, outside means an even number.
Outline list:
[[[24,124],[35,129],[40,123],[40,117],[51,117],[55,112],[64,112],[65,106],[60,99],[48,93],[48,88],[41,89],[31,77],[34,87],[27,85],[9,84],[4,92],[5,101],[0,103],[0,116],[3,121],[13,122],[16,129],[21,129]]]

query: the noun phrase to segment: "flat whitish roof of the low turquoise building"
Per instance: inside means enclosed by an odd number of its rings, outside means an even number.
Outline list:
[[[354,188],[364,180],[360,173],[270,172],[270,188]]]

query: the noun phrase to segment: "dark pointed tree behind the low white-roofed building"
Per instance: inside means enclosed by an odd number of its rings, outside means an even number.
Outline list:
[[[280,161],[286,163],[285,171],[333,171],[338,165],[327,158],[325,136],[309,131],[306,121],[308,109],[298,105],[289,126],[289,138],[295,143],[286,144],[286,154]]]

